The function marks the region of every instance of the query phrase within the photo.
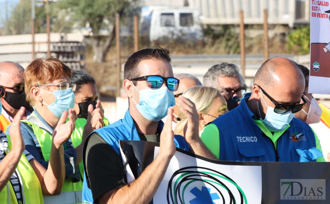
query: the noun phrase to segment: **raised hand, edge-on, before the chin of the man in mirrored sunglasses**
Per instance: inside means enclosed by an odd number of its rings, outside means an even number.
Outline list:
[[[172,130],[173,108],[167,109],[167,119],[159,137],[159,154],[171,159],[176,151],[174,132]]]

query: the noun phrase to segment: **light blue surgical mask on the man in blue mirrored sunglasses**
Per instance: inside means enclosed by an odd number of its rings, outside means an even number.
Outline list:
[[[138,90],[136,87],[135,89]],[[141,115],[150,121],[160,121],[167,115],[167,109],[175,105],[174,93],[167,87],[161,87],[159,89],[143,89],[139,91],[139,93],[139,104],[135,102],[133,97],[132,100],[136,104],[136,108]]]

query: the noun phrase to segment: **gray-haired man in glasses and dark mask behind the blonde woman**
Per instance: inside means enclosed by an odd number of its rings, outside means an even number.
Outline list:
[[[245,79],[235,64],[215,64],[205,73],[204,86],[220,89],[227,101],[228,110],[236,108],[247,90]]]

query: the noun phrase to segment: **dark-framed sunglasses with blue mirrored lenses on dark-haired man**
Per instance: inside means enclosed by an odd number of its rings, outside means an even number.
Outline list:
[[[166,86],[170,91],[176,91],[179,88],[180,80],[174,77],[162,77],[157,75],[148,75],[148,76],[141,76],[130,81],[139,81],[145,79],[147,82],[147,86],[150,89],[159,89],[163,82],[166,82]]]

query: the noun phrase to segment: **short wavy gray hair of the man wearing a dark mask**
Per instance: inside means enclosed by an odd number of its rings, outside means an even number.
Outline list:
[[[241,85],[245,84],[245,79],[240,74],[240,69],[235,64],[221,63],[215,64],[205,73],[203,78],[204,86],[218,88],[218,77],[239,77]]]

